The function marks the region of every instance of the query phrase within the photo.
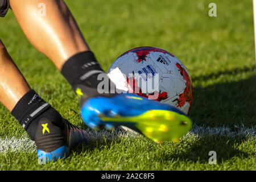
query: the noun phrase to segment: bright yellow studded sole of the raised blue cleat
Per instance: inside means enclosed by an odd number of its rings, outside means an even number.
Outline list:
[[[143,135],[156,143],[178,142],[192,127],[192,121],[183,114],[169,110],[148,110],[134,117],[105,117],[100,119],[113,126],[136,127]]]

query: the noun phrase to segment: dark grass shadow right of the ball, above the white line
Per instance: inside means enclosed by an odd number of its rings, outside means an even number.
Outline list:
[[[256,76],[206,88],[196,87],[193,95],[189,116],[197,125],[255,126]]]

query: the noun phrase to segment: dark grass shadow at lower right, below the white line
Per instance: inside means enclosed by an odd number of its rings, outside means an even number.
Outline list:
[[[231,137],[201,137],[185,148],[187,150],[180,152],[179,154],[166,154],[159,156],[162,160],[176,160],[182,159],[186,162],[195,162],[201,164],[208,164],[209,158],[212,155],[209,155],[210,151],[216,152],[217,163],[225,162],[234,157],[239,157],[241,159],[246,159],[249,157],[247,152],[241,151],[238,149],[241,143],[245,142],[245,138],[231,138]],[[182,147],[182,144],[181,144]]]

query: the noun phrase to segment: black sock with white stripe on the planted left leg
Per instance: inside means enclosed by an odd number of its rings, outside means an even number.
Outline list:
[[[51,118],[52,121],[61,126],[63,118],[46,101],[34,91],[27,92],[15,105],[11,114],[19,121],[20,125],[27,131],[31,140],[35,140],[35,132],[42,118]]]

